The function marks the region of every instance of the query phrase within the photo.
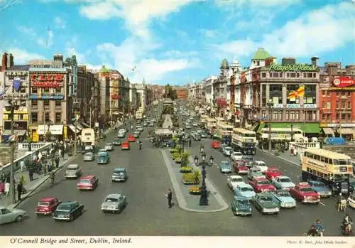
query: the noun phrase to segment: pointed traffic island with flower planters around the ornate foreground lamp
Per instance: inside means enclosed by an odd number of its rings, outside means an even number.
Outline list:
[[[197,168],[194,163],[182,167],[180,163],[175,163],[168,151],[161,149],[160,152],[163,155],[179,207],[190,212],[220,212],[228,209],[228,205],[208,179],[206,185],[209,190],[209,205],[200,205],[200,183],[202,182],[200,168]],[[189,161],[192,161],[191,157]]]

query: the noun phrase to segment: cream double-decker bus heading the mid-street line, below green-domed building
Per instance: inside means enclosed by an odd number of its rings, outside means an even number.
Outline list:
[[[234,149],[243,154],[254,155],[256,153],[256,132],[242,128],[233,129],[231,144]]]

